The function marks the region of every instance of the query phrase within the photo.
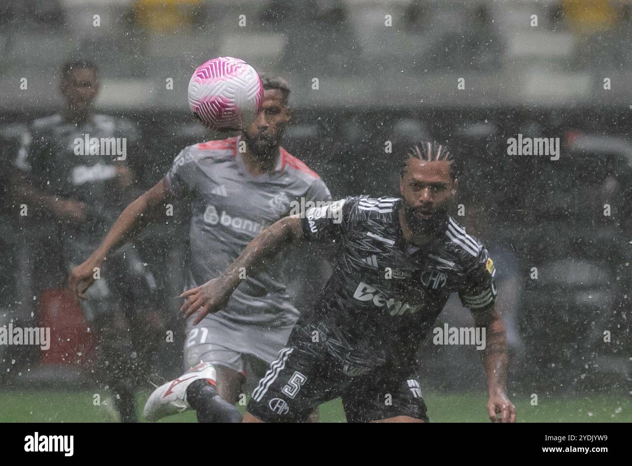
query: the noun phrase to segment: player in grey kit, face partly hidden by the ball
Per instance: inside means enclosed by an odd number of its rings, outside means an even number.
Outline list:
[[[329,190],[307,165],[284,150],[289,122],[289,87],[281,78],[262,78],[262,111],[241,135],[186,147],[164,179],[121,213],[90,258],[73,270],[70,287],[82,297],[94,282],[92,270],[112,249],[137,234],[149,217],[164,215],[164,204],[190,202],[190,251],[186,288],[219,276],[268,225],[306,201],[331,201]],[[302,203],[301,203],[302,201]],[[262,368],[285,345],[298,311],[286,277],[270,263],[250,274],[222,311],[193,326],[187,322],[183,376],[150,395],[149,421],[186,409],[200,422],[240,421],[233,406],[240,395],[245,359]]]

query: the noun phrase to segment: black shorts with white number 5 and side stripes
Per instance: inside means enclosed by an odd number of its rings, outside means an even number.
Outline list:
[[[340,397],[347,422],[396,416],[428,422],[413,367],[380,366],[361,373],[306,338],[310,332],[298,330],[253,390],[250,414],[265,422],[301,422],[321,403]]]

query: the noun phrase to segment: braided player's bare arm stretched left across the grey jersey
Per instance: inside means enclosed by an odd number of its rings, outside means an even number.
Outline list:
[[[284,245],[302,237],[301,219],[298,215],[277,220],[253,239],[222,275],[181,294],[185,303],[180,310],[188,318],[201,307],[193,321],[193,325],[197,325],[207,314],[216,313],[226,306],[231,294],[243,280],[242,277],[256,270],[265,259],[274,256]]]

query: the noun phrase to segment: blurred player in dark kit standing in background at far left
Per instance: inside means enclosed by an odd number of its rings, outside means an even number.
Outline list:
[[[36,218],[37,227],[47,230],[54,242],[47,251],[40,246],[47,271],[37,292],[63,287],[71,268],[99,245],[131,189],[128,156],[137,155],[135,126],[94,111],[99,93],[94,63],[73,59],[63,64],[60,90],[66,107],[30,124],[11,183],[18,205],[28,206],[29,217]],[[114,144],[102,146],[102,140]],[[112,254],[102,269],[102,280],[81,306],[99,335],[97,382],[109,387],[116,417],[130,422],[136,419],[133,388],[138,383],[131,377],[142,372],[137,369],[147,369],[150,345],[161,336],[158,325],[147,325],[155,319],[142,316],[154,312],[150,306],[157,287],[131,247]]]

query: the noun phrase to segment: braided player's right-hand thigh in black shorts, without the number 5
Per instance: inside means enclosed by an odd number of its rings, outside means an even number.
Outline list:
[[[378,368],[356,376],[343,393],[347,422],[428,422],[418,378]]]

